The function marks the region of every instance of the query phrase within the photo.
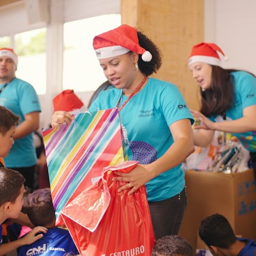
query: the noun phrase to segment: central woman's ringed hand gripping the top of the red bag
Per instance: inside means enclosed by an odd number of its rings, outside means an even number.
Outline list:
[[[138,188],[151,180],[153,178],[152,174],[147,170],[146,166],[147,164],[138,164],[129,173],[115,172],[115,174],[118,176],[114,177],[113,181],[122,180],[127,182],[127,184],[118,189],[118,192],[124,189],[130,189],[128,195],[131,195]]]

